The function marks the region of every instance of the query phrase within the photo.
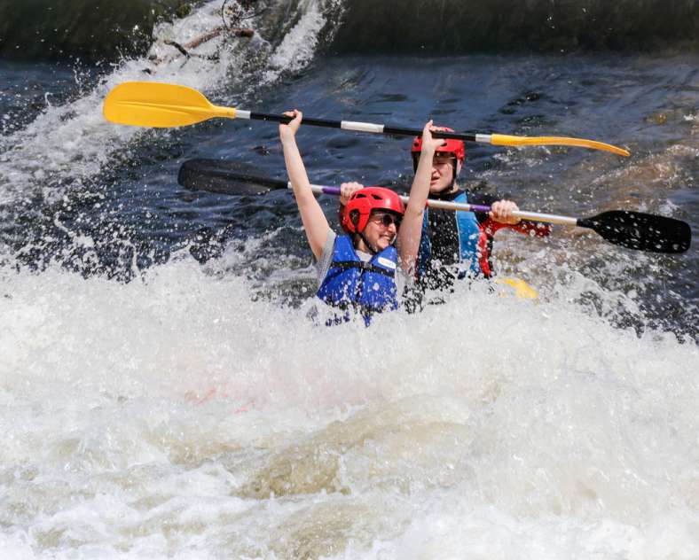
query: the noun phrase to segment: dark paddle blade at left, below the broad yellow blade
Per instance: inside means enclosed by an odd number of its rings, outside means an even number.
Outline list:
[[[187,159],[179,168],[177,183],[193,191],[240,195],[287,188],[284,181],[259,177],[250,169],[251,166],[225,159]]]

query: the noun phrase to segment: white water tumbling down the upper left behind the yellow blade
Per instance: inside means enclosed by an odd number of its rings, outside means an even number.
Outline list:
[[[0,136],[0,204],[37,193],[48,202],[59,200],[67,188],[80,189],[83,181],[108,167],[114,154],[129,159],[130,144],[139,136],[169,134],[167,130],[145,131],[106,122],[102,116],[103,101],[116,85],[130,81],[166,82],[208,93],[224,85],[229,72],[243,66],[248,57],[267,51],[269,44],[259,35],[227,45],[222,45],[218,37],[196,49],[196,54],[202,56],[218,51],[220,59],[216,61],[187,60],[174,47],[163,43],[175,40],[185,44],[220,26],[220,9],[220,0],[214,0],[175,24],[157,27],[149,55],[161,58],[160,64],[155,65],[148,58],[122,61],[94,89],[84,92],[74,102],[53,106],[47,97],[46,109],[35,121],[17,132]],[[272,84],[285,70],[298,71],[308,65],[324,23],[316,2],[308,3],[287,39],[268,56],[259,58],[260,64],[267,65],[263,83]],[[79,74],[75,80],[82,88]],[[212,99],[222,105],[235,105],[230,99]]]

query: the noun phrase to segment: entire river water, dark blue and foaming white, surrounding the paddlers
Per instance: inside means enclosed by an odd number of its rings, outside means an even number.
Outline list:
[[[177,185],[193,157],[284,177],[276,127],[101,117],[114,85],[157,80],[265,112],[591,137],[632,158],[467,146],[463,175],[522,209],[697,231],[695,52],[350,55],[348,5],[275,5],[197,51],[215,59],[165,41],[218,25],[220,2],[143,55],[0,61],[0,557],[699,556],[696,236],[667,256],[507,234],[497,268],[538,300],[475,283],[326,329],[289,194]],[[399,191],[409,142],[299,133],[314,183]]]

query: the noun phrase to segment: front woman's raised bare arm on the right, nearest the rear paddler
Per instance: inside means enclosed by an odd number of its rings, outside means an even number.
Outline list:
[[[437,146],[444,144],[444,140],[432,138],[432,121],[428,121],[422,130],[422,151],[418,162],[415,178],[412,180],[410,198],[405,207],[403,223],[397,236],[398,257],[401,267],[408,276],[415,272],[415,262],[418,260],[420,249],[420,236],[422,234],[422,219],[429,195],[429,181],[432,175],[432,157]]]

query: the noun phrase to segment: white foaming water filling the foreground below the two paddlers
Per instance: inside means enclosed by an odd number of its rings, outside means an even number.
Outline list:
[[[372,329],[249,292],[2,269],[0,557],[699,555],[693,343],[480,286]]]

